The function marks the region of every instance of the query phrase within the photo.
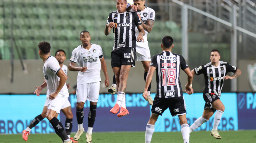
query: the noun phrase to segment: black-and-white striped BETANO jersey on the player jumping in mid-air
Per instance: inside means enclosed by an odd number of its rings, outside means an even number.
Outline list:
[[[141,25],[140,19],[135,12],[119,13],[111,12],[107,23],[114,22],[114,46],[113,50],[119,47],[136,47],[135,26]]]

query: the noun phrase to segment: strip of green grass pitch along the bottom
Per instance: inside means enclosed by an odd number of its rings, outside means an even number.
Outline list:
[[[86,143],[83,133],[78,140]],[[256,130],[219,131],[222,139],[214,139],[210,131],[194,131],[190,133],[190,143],[255,143]],[[75,134],[72,133],[71,137]],[[21,134],[0,135],[0,143],[61,143],[57,134],[31,134],[27,141]],[[96,132],[92,133],[93,143],[144,143],[145,132]],[[183,143],[181,132],[155,132],[151,143]]]

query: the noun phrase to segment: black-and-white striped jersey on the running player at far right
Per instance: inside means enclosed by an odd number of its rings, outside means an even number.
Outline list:
[[[210,62],[194,69],[196,75],[204,74],[204,93],[215,93],[219,97],[224,83],[223,77],[228,72],[235,72],[236,70],[237,67],[223,61],[219,61],[218,67],[213,66]]]

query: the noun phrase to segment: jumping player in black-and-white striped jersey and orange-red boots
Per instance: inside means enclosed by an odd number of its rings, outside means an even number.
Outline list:
[[[129,114],[126,109],[125,91],[127,87],[127,78],[131,66],[135,67],[136,58],[136,44],[141,42],[145,31],[142,23],[135,12],[126,11],[126,0],[116,0],[117,11],[109,14],[106,27],[104,30],[105,35],[109,35],[111,29],[114,33],[114,46],[111,52],[111,67],[116,77],[117,82],[117,100],[115,106],[110,110],[111,113],[116,114],[121,107],[118,117]],[[135,26],[139,30],[139,34],[135,36]]]

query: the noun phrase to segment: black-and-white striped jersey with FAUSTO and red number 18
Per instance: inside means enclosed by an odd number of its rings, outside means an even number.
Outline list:
[[[152,57],[150,66],[156,68],[155,96],[175,98],[183,95],[180,86],[180,69],[188,68],[188,64],[181,55],[163,51]]]

